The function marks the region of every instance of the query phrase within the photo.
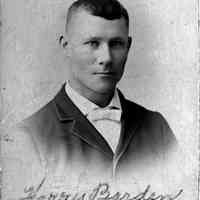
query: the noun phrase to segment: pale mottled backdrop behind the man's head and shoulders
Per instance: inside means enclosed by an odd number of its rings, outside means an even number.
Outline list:
[[[47,103],[67,79],[59,46],[71,0],[1,0],[1,110],[12,125]],[[185,152],[183,181],[197,197],[198,1],[122,0],[133,46],[119,87],[160,111]]]

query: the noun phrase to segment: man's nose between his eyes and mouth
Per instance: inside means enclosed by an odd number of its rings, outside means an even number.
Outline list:
[[[100,65],[107,65],[111,63],[112,55],[108,44],[102,44],[101,48],[99,48],[97,59]]]

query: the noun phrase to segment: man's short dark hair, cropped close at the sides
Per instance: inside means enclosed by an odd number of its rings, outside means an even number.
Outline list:
[[[102,17],[108,20],[120,19],[123,17],[129,27],[129,16],[127,10],[118,0],[77,0],[71,4],[66,18],[66,30],[73,14],[83,9],[91,15]]]

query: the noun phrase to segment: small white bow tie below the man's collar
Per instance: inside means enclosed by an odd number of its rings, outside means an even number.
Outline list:
[[[120,122],[121,110],[116,107],[97,108],[88,113],[87,118],[91,121],[108,119]]]

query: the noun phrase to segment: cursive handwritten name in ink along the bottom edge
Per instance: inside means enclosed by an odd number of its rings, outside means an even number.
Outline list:
[[[55,193],[52,192],[48,195],[38,196],[37,194],[44,183],[44,179],[38,187],[30,187],[24,190],[26,196],[19,200],[175,200],[181,196],[183,190],[180,189],[176,194],[158,195],[155,192],[150,192],[151,186],[148,185],[145,190],[135,196],[130,193],[116,192],[111,194],[110,185],[108,183],[100,183],[97,187],[92,189],[89,193],[75,193],[70,194],[67,192]]]

